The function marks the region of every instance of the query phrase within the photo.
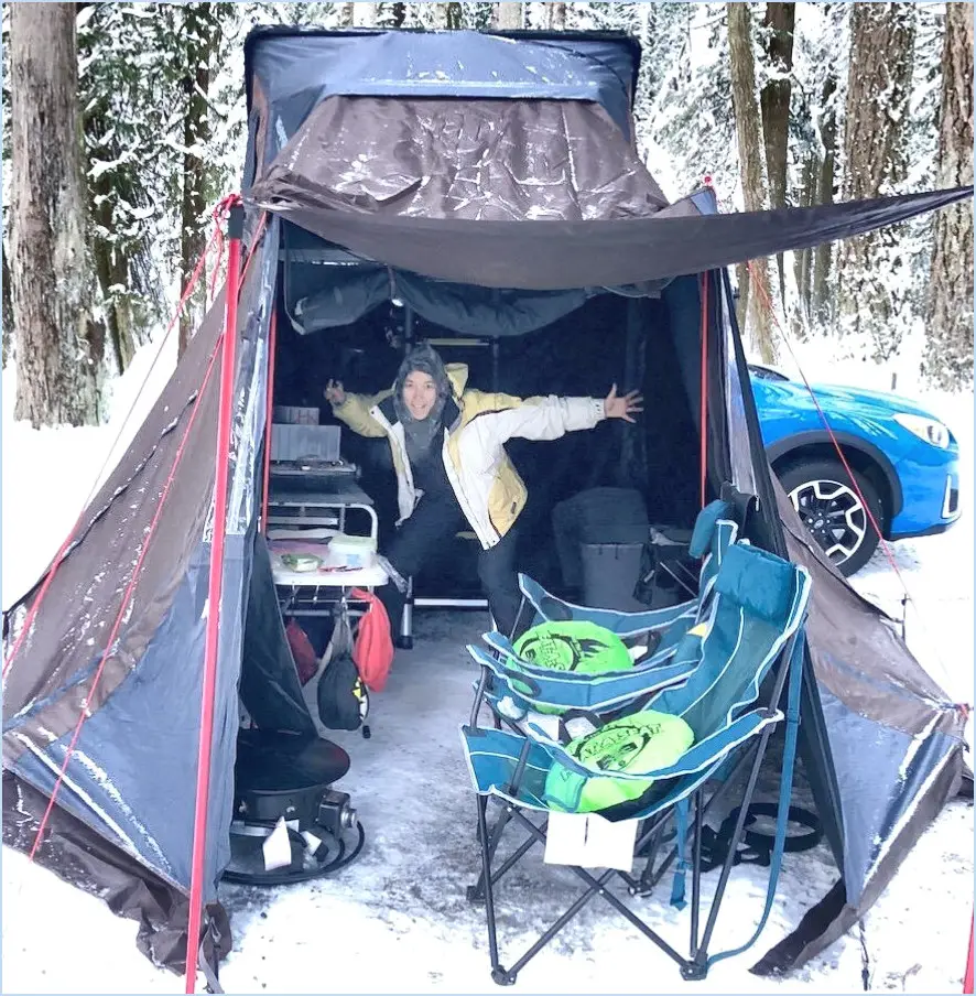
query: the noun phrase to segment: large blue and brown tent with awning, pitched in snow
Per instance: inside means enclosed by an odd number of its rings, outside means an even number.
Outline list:
[[[261,727],[314,728],[260,522],[271,388],[303,403],[333,371],[354,387],[389,382],[400,355],[389,343],[411,335],[487,335],[474,370],[513,393],[618,380],[652,399],[641,433],[607,424],[566,437],[544,466],[513,447],[541,509],[525,513],[533,545],[546,545],[552,504],[583,487],[639,487],[660,521],[687,524],[701,492],[730,481],[758,498],[751,540],[812,572],[801,756],[837,883],[766,970],[802,964],[848,929],[954,793],[964,711],[823,561],[774,487],[723,268],[972,188],[741,215],[718,215],[708,190],[668,204],[633,151],[638,61],[616,34],[249,36],[235,334],[221,337],[221,296],[4,619],[4,842],[34,847],[61,781],[36,859],[138,919],[158,963],[183,966],[193,885],[205,953],[229,948],[217,881],[239,700]],[[223,390],[221,338],[225,357],[228,339],[236,347]],[[368,466],[372,452],[356,456]],[[197,705],[205,678],[212,715]],[[194,840],[205,841],[196,855]]]

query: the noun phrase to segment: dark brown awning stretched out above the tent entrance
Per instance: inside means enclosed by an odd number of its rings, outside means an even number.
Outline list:
[[[300,190],[294,178],[280,190],[272,175],[256,183],[248,196],[359,256],[425,277],[566,290],[669,279],[809,249],[970,199],[973,187],[735,215],[700,215],[693,199],[685,198],[649,217],[586,221],[473,221],[338,210],[330,192],[315,190],[311,182]]]

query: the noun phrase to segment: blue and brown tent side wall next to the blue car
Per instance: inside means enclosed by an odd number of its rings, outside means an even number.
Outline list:
[[[728,302],[727,275],[724,284]],[[745,354],[731,312],[728,327],[730,366],[742,383]],[[725,405],[729,437],[749,440],[751,456],[731,450],[733,480],[751,480],[750,494],[774,510],[774,518],[764,517],[778,527],[768,534],[772,545],[813,580],[801,750],[841,872],[835,889],[753,966],[769,975],[802,965],[853,927],[955,794],[966,710],[915,660],[893,620],[858,595],[812,541],[768,470],[751,392],[739,402]]]

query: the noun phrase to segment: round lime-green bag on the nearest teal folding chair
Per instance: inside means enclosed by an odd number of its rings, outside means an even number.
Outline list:
[[[595,813],[643,795],[652,778],[614,778],[603,772],[640,773],[675,764],[694,743],[681,716],[644,710],[571,740],[566,751],[595,775],[554,760],[545,779],[545,803],[566,813]]]

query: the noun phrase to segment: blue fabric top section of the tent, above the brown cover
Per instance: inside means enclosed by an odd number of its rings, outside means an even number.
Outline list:
[[[632,139],[639,61],[619,34],[265,29],[245,43],[248,166],[260,173],[333,96],[592,101]]]

